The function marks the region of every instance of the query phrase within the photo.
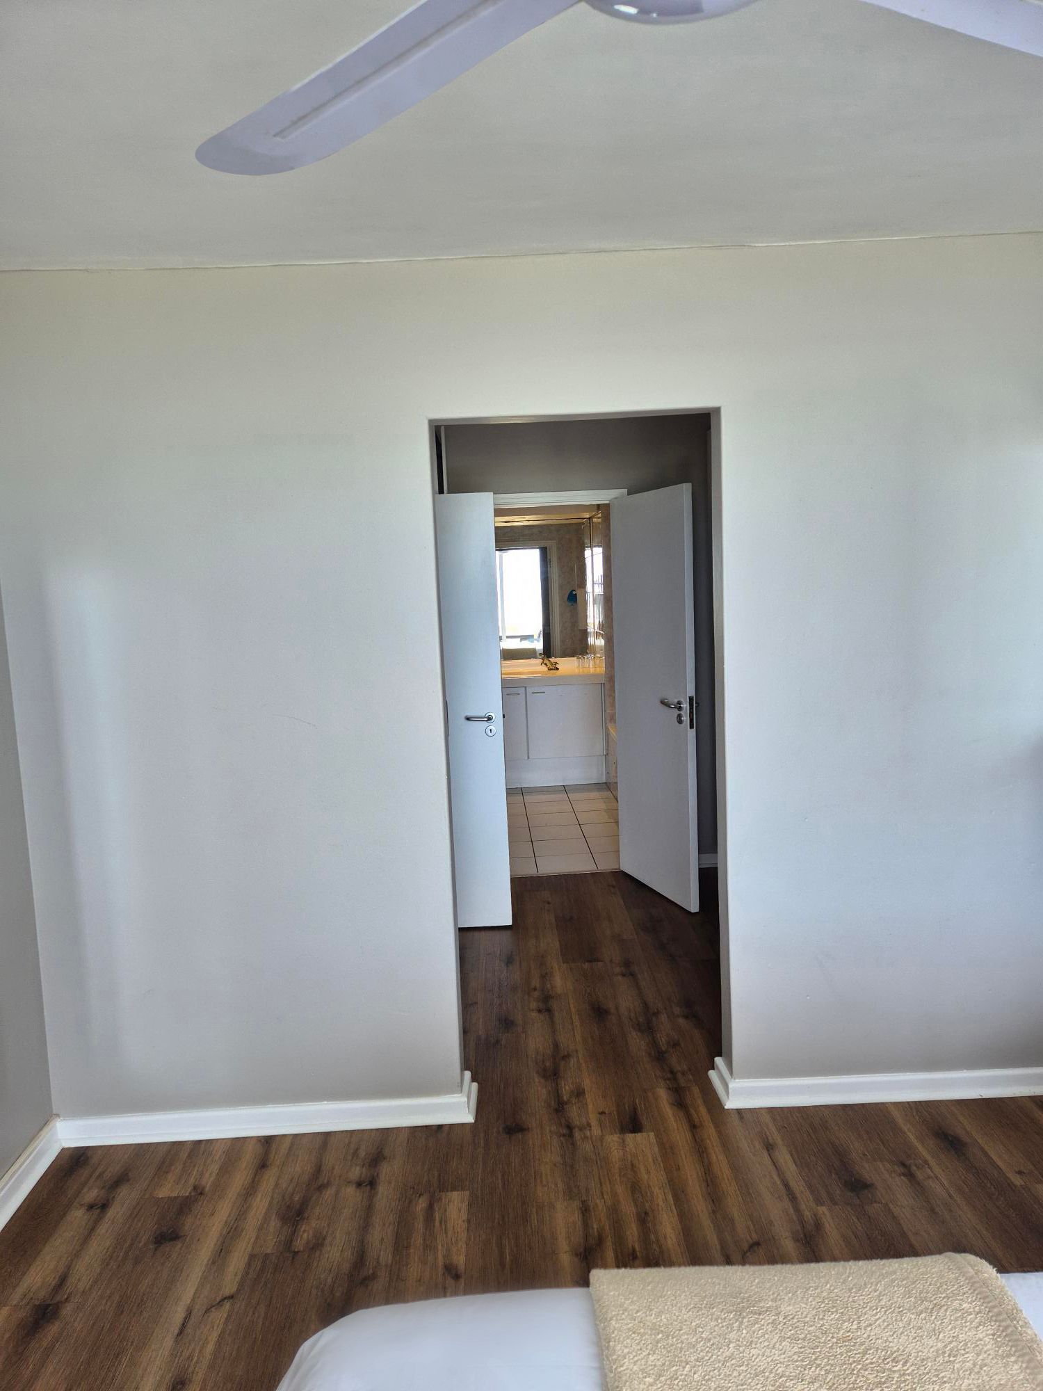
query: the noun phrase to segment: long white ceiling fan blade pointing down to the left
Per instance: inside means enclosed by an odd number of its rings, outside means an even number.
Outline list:
[[[313,164],[573,4],[423,0],[328,68],[204,140],[196,159],[227,174],[280,174]]]

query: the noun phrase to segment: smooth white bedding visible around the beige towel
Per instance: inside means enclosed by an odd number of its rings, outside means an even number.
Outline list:
[[[1043,1274],[1004,1276],[1043,1338]],[[604,1391],[587,1289],[363,1309],[310,1338],[278,1391]]]

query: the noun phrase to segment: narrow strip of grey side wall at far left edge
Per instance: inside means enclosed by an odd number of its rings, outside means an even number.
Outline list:
[[[0,601],[0,1174],[50,1114],[40,960]]]

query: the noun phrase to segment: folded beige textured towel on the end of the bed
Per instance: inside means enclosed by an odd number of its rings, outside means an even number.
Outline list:
[[[608,1391],[1043,1391],[1043,1342],[975,1256],[595,1270]]]

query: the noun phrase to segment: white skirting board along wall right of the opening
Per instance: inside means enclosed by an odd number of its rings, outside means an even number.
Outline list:
[[[850,1077],[734,1078],[723,1057],[709,1074],[729,1110],[762,1106],[852,1106],[864,1102],[957,1102],[985,1096],[1043,1096],[1043,1067],[967,1072],[868,1072]]]

